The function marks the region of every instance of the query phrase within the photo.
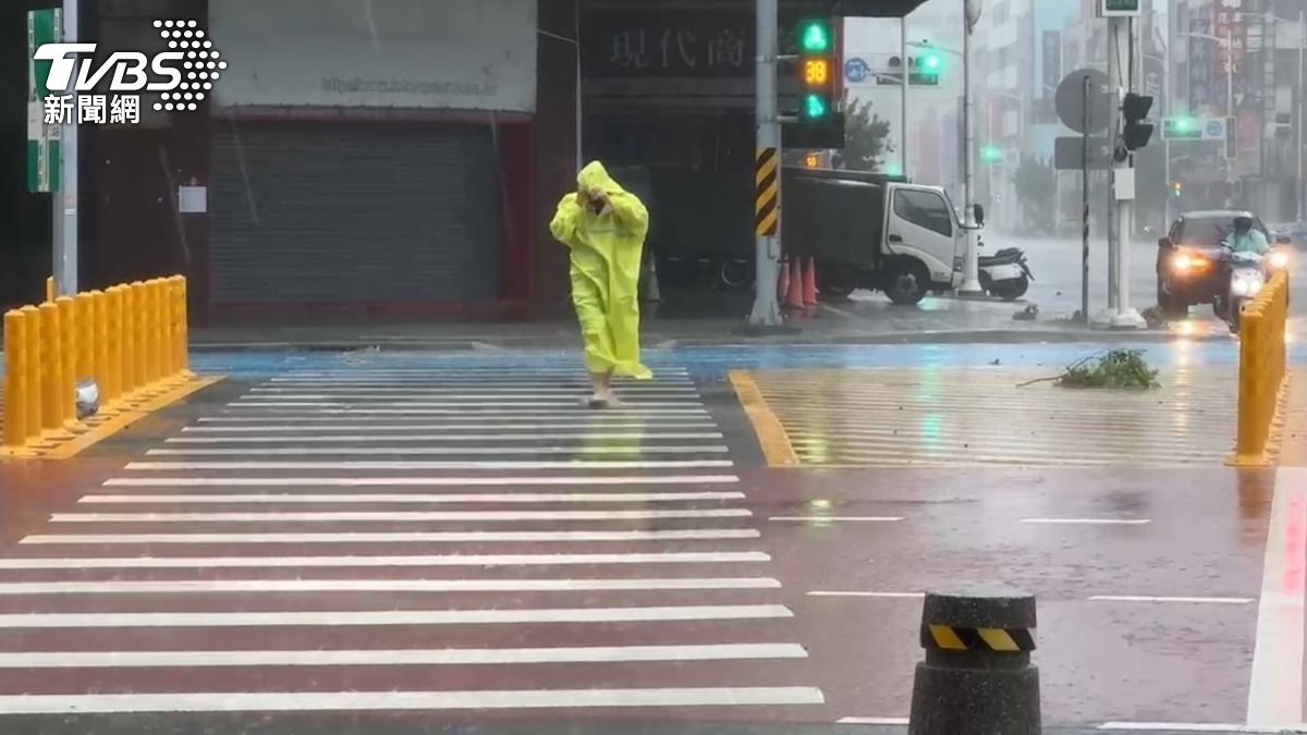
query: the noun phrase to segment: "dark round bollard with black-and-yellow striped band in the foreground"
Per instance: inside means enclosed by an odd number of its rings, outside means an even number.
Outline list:
[[[908,735],[1039,735],[1035,598],[929,594],[921,608]]]

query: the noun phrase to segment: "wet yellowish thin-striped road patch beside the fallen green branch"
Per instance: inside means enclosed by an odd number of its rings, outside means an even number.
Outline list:
[[[1057,371],[778,370],[733,378],[750,394],[750,417],[778,466],[1184,467],[1219,466],[1231,450],[1233,368],[1182,366],[1146,391],[1064,388],[1050,373]]]

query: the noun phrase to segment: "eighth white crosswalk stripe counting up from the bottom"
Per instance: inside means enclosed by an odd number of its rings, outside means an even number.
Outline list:
[[[197,493],[197,494],[91,494],[77,502],[86,505],[427,505],[427,504],[537,504],[537,502],[693,502],[744,500],[740,492],[702,493]]]

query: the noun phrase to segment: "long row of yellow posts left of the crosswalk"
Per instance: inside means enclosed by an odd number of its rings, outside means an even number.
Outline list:
[[[7,313],[0,451],[39,456],[86,432],[77,394],[88,381],[97,416],[111,417],[188,379],[186,288],[171,276]]]

